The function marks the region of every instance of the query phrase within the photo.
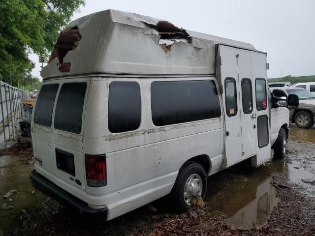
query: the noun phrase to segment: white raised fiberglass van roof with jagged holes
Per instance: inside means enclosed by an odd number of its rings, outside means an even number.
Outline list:
[[[105,10],[81,17],[61,32],[41,76],[214,75],[218,43],[255,51],[249,43],[180,29],[152,17]],[[69,72],[58,70],[61,62],[71,63]]]

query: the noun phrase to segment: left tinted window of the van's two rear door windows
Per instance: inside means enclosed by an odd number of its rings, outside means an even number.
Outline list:
[[[50,127],[53,107],[59,84],[43,85],[39,91],[34,111],[34,122]]]

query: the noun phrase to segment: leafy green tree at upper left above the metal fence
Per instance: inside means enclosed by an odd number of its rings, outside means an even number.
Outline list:
[[[29,53],[48,55],[59,31],[85,0],[0,0],[0,80],[30,85]]]

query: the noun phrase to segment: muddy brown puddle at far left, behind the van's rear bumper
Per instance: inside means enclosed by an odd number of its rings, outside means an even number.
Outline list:
[[[32,194],[34,188],[29,173],[33,168],[33,165],[21,165],[19,157],[0,157],[0,207],[3,204],[13,206],[11,210],[0,208],[0,229],[6,230],[21,224],[20,216],[23,209],[30,212],[33,207],[37,207],[40,202],[47,199],[39,191]],[[11,197],[12,202],[9,202],[3,199],[3,196],[11,189],[17,189],[18,192]]]

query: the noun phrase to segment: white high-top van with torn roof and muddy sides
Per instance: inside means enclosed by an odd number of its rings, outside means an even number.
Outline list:
[[[82,17],[41,71],[32,185],[107,220],[168,194],[185,211],[208,176],[272,147],[284,158],[289,112],[268,98],[266,68],[251,44],[115,10]]]

